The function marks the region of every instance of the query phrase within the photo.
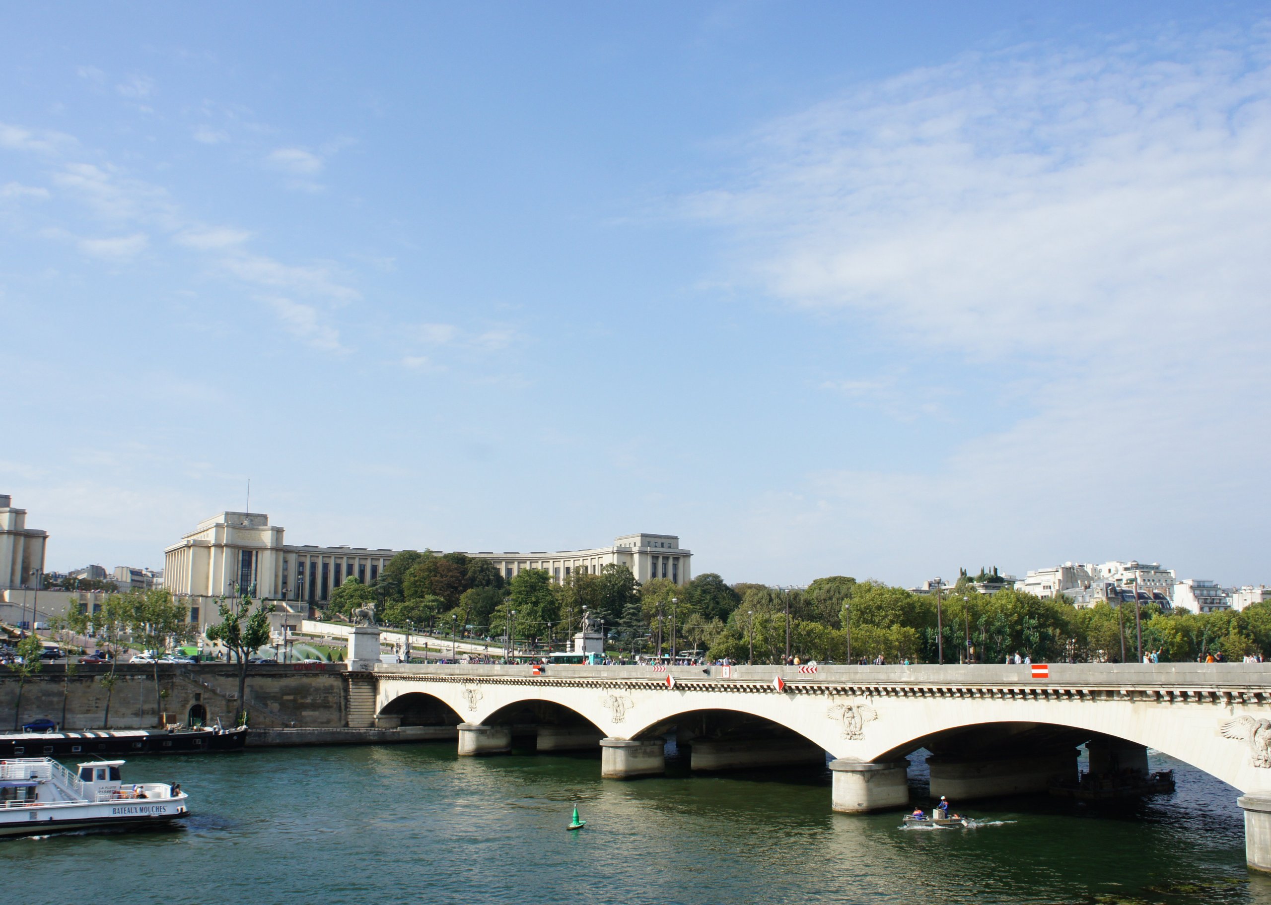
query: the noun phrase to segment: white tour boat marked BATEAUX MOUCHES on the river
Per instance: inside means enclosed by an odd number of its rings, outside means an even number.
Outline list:
[[[0,760],[0,836],[156,826],[189,815],[180,786],[123,783],[121,766],[94,760],[71,773],[52,758]]]

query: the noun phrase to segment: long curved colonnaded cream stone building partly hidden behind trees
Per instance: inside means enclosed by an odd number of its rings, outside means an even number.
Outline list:
[[[365,547],[295,545],[285,529],[269,525],[263,512],[221,512],[164,550],[164,586],[173,594],[219,597],[253,590],[253,596],[318,604],[350,576],[377,581],[399,550]],[[599,572],[609,563],[628,566],[638,581],[669,578],[679,585],[691,577],[693,553],[670,534],[628,534],[611,547],[590,550],[480,552],[505,578],[541,568],[554,581],[572,572]]]

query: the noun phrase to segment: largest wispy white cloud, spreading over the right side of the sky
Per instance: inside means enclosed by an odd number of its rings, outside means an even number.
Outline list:
[[[934,466],[862,469],[845,451],[756,520],[785,507],[792,543],[839,538],[896,569],[911,566],[895,550],[974,543],[1023,568],[1125,536],[1082,501],[1169,500],[1183,519],[1271,503],[1249,454],[1271,444],[1266,38],[977,53],[752,136],[736,177],[686,203],[735,242],[722,282],[944,350],[955,386],[986,371],[1030,386],[1013,423]],[[886,399],[878,383],[824,388]],[[991,505],[966,505],[988,488]]]

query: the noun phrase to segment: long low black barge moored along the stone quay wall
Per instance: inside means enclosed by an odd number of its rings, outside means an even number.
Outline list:
[[[0,758],[76,758],[97,754],[201,754],[241,751],[247,727],[165,732],[163,730],[85,730],[83,732],[5,732]]]

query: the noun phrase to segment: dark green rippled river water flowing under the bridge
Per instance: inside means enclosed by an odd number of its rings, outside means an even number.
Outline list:
[[[454,742],[139,758],[125,780],[180,782],[194,816],[0,841],[0,900],[1271,902],[1244,868],[1237,792],[1153,755],[1162,766],[1172,796],[1003,800],[965,808],[990,825],[923,831],[834,813],[827,770],[672,761],[666,778],[602,782],[599,758],[460,759]],[[920,758],[910,773],[925,796]],[[573,803],[580,833],[564,829]]]

